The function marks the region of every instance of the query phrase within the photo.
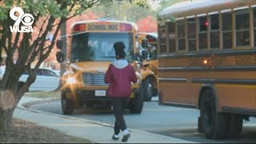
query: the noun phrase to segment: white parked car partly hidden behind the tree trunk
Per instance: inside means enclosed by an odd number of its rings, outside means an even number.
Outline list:
[[[2,78],[5,70],[0,70],[0,78]],[[29,74],[26,72],[19,78],[19,82],[26,82]],[[34,83],[29,87],[29,91],[41,91],[41,90],[56,90],[59,85],[59,74],[54,70],[39,68],[37,78]]]

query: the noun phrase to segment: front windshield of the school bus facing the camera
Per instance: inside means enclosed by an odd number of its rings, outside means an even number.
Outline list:
[[[129,33],[83,33],[72,38],[71,62],[112,62],[114,43],[124,42],[126,54],[133,54],[133,35]],[[131,58],[131,57],[126,57]]]

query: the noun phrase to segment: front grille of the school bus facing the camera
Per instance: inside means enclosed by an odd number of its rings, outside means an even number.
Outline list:
[[[106,86],[104,82],[105,74],[82,74],[82,81],[86,86]]]

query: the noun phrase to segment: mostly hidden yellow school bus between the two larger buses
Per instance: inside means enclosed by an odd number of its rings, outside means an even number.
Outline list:
[[[142,47],[142,39],[147,39],[148,45]],[[158,95],[158,54],[157,54],[157,33],[138,33],[138,40],[141,50],[147,50],[147,58],[142,63],[142,86],[144,89],[144,100],[150,101],[152,97]]]

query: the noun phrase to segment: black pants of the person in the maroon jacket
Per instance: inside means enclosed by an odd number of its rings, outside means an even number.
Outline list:
[[[129,98],[112,98],[114,107],[114,134],[119,134],[120,130],[126,130],[126,121],[123,118],[124,111],[129,102]]]

